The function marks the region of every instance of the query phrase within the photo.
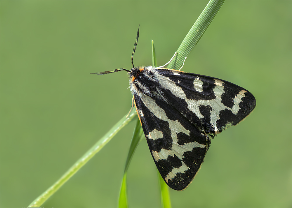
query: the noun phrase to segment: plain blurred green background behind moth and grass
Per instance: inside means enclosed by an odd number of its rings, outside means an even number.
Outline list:
[[[208,1],[1,1],[1,207],[26,207],[131,108],[128,75],[166,63]],[[173,207],[291,207],[291,1],[226,1],[183,70],[251,91],[253,113],[211,142]],[[44,207],[116,207],[135,122]],[[130,207],[159,207],[146,140]]]

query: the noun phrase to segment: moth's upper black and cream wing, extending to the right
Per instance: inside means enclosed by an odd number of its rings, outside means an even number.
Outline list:
[[[235,126],[256,107],[254,96],[231,82],[171,69],[158,71],[169,103],[204,134],[216,135]]]

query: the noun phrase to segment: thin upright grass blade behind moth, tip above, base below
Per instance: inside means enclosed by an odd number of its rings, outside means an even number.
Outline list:
[[[156,56],[155,56],[155,47],[154,42],[151,40],[152,43],[152,66],[157,67]],[[160,202],[161,207],[171,207],[170,196],[168,192],[168,185],[165,183],[163,178],[161,177],[158,169],[157,169],[157,176],[158,176],[158,184],[160,189]]]

